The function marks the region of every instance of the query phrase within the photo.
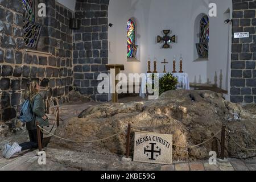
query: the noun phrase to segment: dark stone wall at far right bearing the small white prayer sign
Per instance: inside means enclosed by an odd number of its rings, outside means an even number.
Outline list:
[[[256,1],[233,0],[234,32],[250,32],[250,38],[232,40],[231,101],[256,103]]]

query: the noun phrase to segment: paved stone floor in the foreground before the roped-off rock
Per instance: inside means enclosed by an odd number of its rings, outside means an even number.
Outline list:
[[[30,151],[22,156],[6,160],[0,156],[0,171],[27,171],[27,170],[49,170],[44,168],[44,165],[38,164],[38,151]],[[58,163],[47,160],[48,166],[51,166],[51,171],[54,170],[72,170],[79,169],[72,167],[63,167]],[[50,163],[50,164],[49,164]],[[131,162],[134,163],[134,162]],[[32,167],[36,166],[37,167]],[[32,167],[32,169],[31,169]],[[226,162],[217,162],[217,165],[210,165],[207,161],[174,163],[168,166],[161,166],[156,170],[160,171],[256,171],[256,159],[240,160],[227,159]]]

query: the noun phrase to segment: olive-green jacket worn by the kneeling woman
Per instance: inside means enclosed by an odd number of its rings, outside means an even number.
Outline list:
[[[26,123],[27,130],[35,130],[36,122],[39,122],[41,127],[49,126],[48,118],[44,120],[42,117],[46,114],[43,97],[40,94],[36,94],[32,99],[31,106],[33,107],[33,113],[35,114],[35,120],[29,123]]]

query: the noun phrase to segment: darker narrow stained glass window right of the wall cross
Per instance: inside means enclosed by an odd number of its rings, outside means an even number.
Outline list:
[[[199,58],[208,58],[209,55],[209,18],[204,15],[200,20],[200,42],[196,44]]]

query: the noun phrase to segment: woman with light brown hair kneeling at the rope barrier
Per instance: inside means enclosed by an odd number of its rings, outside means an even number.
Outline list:
[[[35,114],[34,121],[26,123],[26,128],[28,130],[28,135],[30,137],[30,142],[25,143],[14,143],[12,146],[5,144],[3,150],[3,156],[6,159],[10,159],[14,154],[28,150],[31,148],[38,148],[38,135],[36,133],[36,122],[39,122],[40,127],[49,126],[48,117],[45,112],[44,101],[42,96],[39,94],[40,86],[38,82],[32,81],[28,83],[27,89],[23,95],[24,99],[30,100],[32,106],[32,111]],[[41,133],[41,141],[43,140],[43,134]]]

